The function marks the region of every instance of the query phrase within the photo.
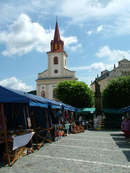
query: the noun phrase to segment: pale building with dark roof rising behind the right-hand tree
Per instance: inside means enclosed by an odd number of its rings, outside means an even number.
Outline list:
[[[101,72],[101,76],[97,77],[101,91],[104,90],[109,81],[120,76],[130,76],[130,61],[127,59],[119,61],[118,66],[115,67],[114,65],[112,71],[105,70]],[[90,87],[93,91],[95,91],[95,81],[91,83]]]

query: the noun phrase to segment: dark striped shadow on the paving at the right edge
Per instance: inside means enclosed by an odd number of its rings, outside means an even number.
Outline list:
[[[130,162],[130,143],[126,140],[124,135],[121,134],[111,134],[113,140],[117,146],[121,149],[122,153],[127,158],[127,161]],[[125,150],[124,150],[125,149]]]

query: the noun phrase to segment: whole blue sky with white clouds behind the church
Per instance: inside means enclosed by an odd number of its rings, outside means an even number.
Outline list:
[[[48,68],[56,16],[67,68],[90,85],[130,60],[130,0],[1,0],[0,85],[30,91]]]

